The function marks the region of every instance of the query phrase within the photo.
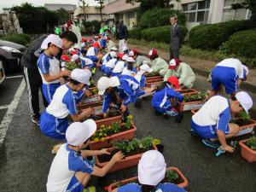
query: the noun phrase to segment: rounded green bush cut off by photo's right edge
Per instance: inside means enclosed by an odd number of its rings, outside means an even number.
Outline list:
[[[234,33],[220,49],[225,49],[228,54],[256,59],[256,29]]]

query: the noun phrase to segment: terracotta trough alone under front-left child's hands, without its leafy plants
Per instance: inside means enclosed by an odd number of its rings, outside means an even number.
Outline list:
[[[154,150],[157,150],[155,146],[153,146]],[[113,148],[109,148],[113,149]],[[125,168],[129,168],[131,166],[137,166],[139,160],[142,158],[142,154],[134,154],[131,156],[126,156],[123,160],[120,160],[118,163],[115,163],[112,168],[109,170],[109,172],[117,172],[119,170],[123,170]],[[106,166],[108,162],[100,162],[99,159],[96,156],[96,166],[103,167]]]

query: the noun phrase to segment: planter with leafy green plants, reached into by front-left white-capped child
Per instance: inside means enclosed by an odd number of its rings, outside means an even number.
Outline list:
[[[114,164],[109,172],[116,172],[131,166],[137,166],[143,153],[150,149],[157,150],[157,144],[160,144],[160,140],[154,139],[153,137],[144,137],[141,140],[133,138],[131,140],[112,143],[112,148],[108,148],[108,150],[111,151],[111,154],[96,156],[96,165],[99,167],[107,165],[113,154],[121,150],[125,154],[125,158]]]

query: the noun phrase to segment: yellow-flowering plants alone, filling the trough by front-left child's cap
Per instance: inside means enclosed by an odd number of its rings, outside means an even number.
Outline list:
[[[90,140],[95,142],[98,142],[98,141],[104,142],[105,137],[109,137],[121,131],[126,131],[131,129],[131,124],[132,124],[132,116],[129,115],[127,117],[127,121],[125,124],[122,124],[121,122],[115,122],[111,125],[102,125],[101,129],[97,130],[95,134],[90,138]]]

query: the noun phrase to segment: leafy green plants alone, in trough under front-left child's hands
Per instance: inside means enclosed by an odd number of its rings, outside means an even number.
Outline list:
[[[113,143],[114,148],[118,148],[124,154],[130,154],[139,150],[148,151],[153,145],[160,144],[159,139],[144,137],[143,139],[133,138],[131,141],[119,141]]]

